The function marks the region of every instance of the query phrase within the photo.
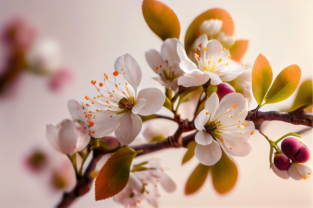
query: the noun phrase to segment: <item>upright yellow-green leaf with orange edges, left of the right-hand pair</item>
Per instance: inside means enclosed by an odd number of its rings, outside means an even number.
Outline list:
[[[252,67],[252,92],[260,106],[273,79],[271,67],[262,54],[259,54]]]

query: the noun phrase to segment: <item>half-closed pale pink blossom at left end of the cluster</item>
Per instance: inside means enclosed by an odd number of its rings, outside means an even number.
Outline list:
[[[56,126],[46,126],[46,138],[52,147],[63,154],[73,155],[83,150],[89,140],[89,127],[84,118],[82,106],[75,100],[67,102],[74,120],[64,119]]]

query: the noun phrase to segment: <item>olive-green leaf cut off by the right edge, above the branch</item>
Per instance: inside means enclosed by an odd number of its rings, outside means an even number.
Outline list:
[[[305,109],[311,106],[312,100],[313,100],[312,94],[313,94],[312,93],[312,80],[304,81],[298,89],[298,92],[294,98],[292,106],[289,109],[284,110],[284,111],[291,112],[296,109]],[[310,108],[309,112],[312,112],[312,108]]]

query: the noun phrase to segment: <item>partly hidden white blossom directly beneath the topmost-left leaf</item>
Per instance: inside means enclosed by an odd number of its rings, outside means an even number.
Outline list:
[[[180,59],[176,51],[177,44],[182,45],[177,38],[167,38],[162,43],[160,53],[154,49],[145,52],[146,62],[159,75],[153,79],[165,88],[174,91],[178,87],[177,78],[183,74],[179,68]]]

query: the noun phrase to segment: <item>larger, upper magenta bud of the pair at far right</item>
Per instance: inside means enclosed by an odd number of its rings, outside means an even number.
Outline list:
[[[285,138],[281,143],[281,151],[296,163],[305,163],[310,156],[308,147],[295,137]]]

